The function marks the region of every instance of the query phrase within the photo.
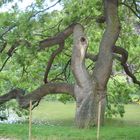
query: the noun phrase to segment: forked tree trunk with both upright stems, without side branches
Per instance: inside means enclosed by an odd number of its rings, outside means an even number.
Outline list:
[[[92,78],[85,67],[87,39],[81,25],[74,27],[74,47],[72,52],[72,71],[76,79],[76,124],[78,127],[90,127],[97,124],[98,103],[101,100],[101,124],[104,122],[106,87],[111,74],[113,52],[119,35],[119,20],[116,0],[105,0],[107,28],[101,40],[98,59]]]

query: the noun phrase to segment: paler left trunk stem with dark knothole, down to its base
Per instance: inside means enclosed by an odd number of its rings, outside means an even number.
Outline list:
[[[83,27],[77,24],[73,31],[74,47],[72,52],[72,72],[76,79],[74,93],[76,95],[75,121],[79,128],[93,124],[93,86],[90,75],[85,67],[85,54],[88,47]]]

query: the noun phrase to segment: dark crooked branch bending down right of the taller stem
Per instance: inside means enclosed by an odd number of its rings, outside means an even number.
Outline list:
[[[119,57],[119,61],[121,62],[122,67],[124,68],[124,71],[126,72],[126,74],[132,78],[133,82],[137,85],[140,86],[140,81],[137,80],[137,78],[135,77],[135,75],[129,70],[129,67],[127,65],[127,59],[128,59],[128,52],[124,49],[121,48],[119,46],[114,46],[113,47],[113,52],[120,54],[122,57]]]

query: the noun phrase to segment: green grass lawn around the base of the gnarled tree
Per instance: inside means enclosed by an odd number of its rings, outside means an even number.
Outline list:
[[[96,140],[96,128],[74,126],[75,105],[43,101],[33,111],[33,140]],[[37,124],[36,124],[37,123]],[[126,105],[124,118],[106,120],[100,140],[140,140],[140,105]],[[0,138],[28,139],[28,123],[0,124]]]

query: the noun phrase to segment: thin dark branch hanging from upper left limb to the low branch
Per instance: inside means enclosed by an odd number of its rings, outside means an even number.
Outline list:
[[[50,59],[49,59],[49,62],[47,64],[47,67],[46,67],[46,72],[45,72],[45,75],[44,75],[44,83],[48,83],[48,74],[49,74],[49,71],[51,69],[51,66],[52,66],[52,63],[56,57],[56,55],[60,54],[62,52],[64,48],[64,42],[62,42],[61,44],[59,44],[59,48],[57,48],[51,55]]]

